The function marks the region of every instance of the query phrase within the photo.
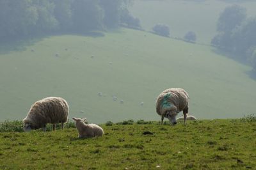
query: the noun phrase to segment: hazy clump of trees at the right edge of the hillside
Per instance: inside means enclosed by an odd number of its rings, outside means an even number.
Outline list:
[[[228,6],[220,14],[217,31],[212,45],[250,63],[256,72],[256,17],[248,18],[241,6]]]

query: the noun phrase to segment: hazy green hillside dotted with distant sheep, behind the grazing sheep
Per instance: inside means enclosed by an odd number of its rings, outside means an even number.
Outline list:
[[[105,36],[51,36],[4,48],[2,121],[22,120],[36,100],[49,96],[68,101],[70,118],[95,123],[160,120],[157,95],[173,87],[188,91],[189,112],[197,118],[239,118],[255,112],[256,81],[246,74],[251,68],[215,54],[211,47],[122,29]],[[113,101],[114,95],[118,100]]]

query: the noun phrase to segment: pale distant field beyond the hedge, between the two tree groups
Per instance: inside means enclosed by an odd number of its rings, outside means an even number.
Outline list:
[[[194,31],[197,42],[207,43],[216,35],[216,23],[226,6],[235,4],[217,0],[205,1],[134,1],[132,15],[138,17],[146,30],[158,23],[170,27],[170,35],[183,38],[188,31]],[[256,2],[236,3],[247,9],[248,17],[255,17]]]

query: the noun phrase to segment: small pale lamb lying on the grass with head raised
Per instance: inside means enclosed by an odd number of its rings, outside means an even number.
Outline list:
[[[72,118],[75,121],[75,126],[78,131],[78,137],[96,137],[96,136],[102,136],[104,134],[104,131],[101,127],[95,124],[85,124],[84,121],[86,121],[86,118],[83,120],[81,118]]]

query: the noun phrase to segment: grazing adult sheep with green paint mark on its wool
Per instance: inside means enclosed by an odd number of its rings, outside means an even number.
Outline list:
[[[177,124],[176,116],[180,111],[183,111],[185,125],[188,102],[188,93],[182,88],[170,88],[160,93],[156,100],[156,112],[161,116],[161,125],[164,118],[168,118],[172,125]]]

